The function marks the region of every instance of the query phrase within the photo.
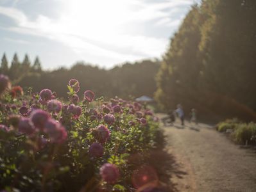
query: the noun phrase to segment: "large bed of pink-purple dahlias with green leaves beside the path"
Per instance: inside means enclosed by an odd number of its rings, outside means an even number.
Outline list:
[[[79,100],[76,79],[69,102],[49,89],[13,97],[10,88],[0,75],[0,191],[135,191],[132,174],[155,147],[153,113],[90,90]]]

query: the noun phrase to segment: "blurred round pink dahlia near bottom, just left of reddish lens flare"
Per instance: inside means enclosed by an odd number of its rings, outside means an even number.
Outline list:
[[[102,179],[109,184],[114,184],[119,179],[119,170],[115,164],[103,164],[99,173],[101,174]]]

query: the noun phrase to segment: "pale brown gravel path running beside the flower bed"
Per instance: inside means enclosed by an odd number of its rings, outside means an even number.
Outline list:
[[[176,191],[256,191],[256,153],[235,145],[213,127],[162,126],[167,151],[175,157]],[[174,166],[174,165],[173,165]]]

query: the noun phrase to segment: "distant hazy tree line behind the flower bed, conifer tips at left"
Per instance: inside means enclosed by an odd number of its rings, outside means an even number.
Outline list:
[[[160,67],[158,60],[142,60],[135,63],[124,63],[106,70],[94,67],[85,62],[77,62],[71,68],[61,67],[56,70],[42,70],[39,58],[35,58],[33,65],[26,54],[22,62],[17,54],[8,65],[6,55],[3,55],[0,71],[12,79],[14,84],[24,88],[33,88],[39,92],[43,88],[55,91],[58,97],[66,97],[69,79],[75,78],[80,81],[81,95],[83,89],[92,90],[98,97],[141,97],[148,95],[153,97],[157,90],[155,76]]]

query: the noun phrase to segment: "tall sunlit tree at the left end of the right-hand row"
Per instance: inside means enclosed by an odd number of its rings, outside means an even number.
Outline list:
[[[198,76],[202,68],[198,45],[203,19],[198,6],[192,6],[164,55],[157,75],[156,97],[167,108],[175,108],[178,103],[190,108],[198,97]]]

